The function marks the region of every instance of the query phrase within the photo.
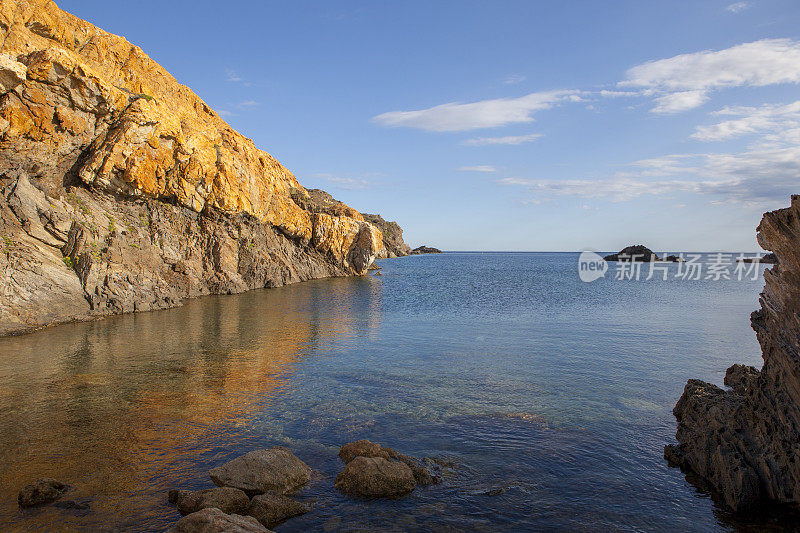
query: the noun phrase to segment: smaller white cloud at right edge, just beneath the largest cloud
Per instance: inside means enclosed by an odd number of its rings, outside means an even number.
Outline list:
[[[787,105],[726,107],[715,115],[738,117],[709,126],[698,126],[692,138],[699,141],[723,141],[742,135],[766,132],[762,142],[775,145],[781,139],[793,143],[800,130],[800,100]]]

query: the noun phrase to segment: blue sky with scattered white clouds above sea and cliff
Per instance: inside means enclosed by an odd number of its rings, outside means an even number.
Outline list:
[[[800,193],[800,2],[57,3],[412,246],[752,251]]]

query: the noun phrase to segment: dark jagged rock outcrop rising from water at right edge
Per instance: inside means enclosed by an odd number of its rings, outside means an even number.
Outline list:
[[[778,259],[751,315],[763,367],[732,366],[728,390],[690,380],[674,409],[679,444],[664,450],[734,510],[800,503],[800,196],[764,215],[758,242]]]

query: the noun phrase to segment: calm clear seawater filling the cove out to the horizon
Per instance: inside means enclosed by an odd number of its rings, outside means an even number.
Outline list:
[[[380,264],[0,339],[0,529],[164,529],[168,489],[276,444],[315,469],[313,510],[279,532],[746,526],[662,454],[687,379],[760,366],[763,279],[582,283],[577,254]],[[353,501],[332,486],[359,438],[455,467]],[[89,508],[20,511],[41,476]]]

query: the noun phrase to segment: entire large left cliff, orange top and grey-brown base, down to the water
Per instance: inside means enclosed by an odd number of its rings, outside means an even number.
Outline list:
[[[0,334],[364,274],[381,232],[309,193],[125,39],[0,1]],[[343,207],[342,207],[343,206]]]

